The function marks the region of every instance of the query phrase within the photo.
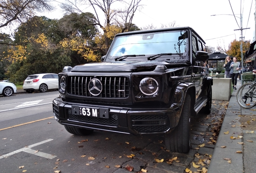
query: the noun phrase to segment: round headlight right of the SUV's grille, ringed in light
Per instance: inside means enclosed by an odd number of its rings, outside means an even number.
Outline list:
[[[139,85],[141,93],[151,96],[157,93],[159,86],[157,83],[157,80],[154,78],[144,78],[140,80],[140,85]]]

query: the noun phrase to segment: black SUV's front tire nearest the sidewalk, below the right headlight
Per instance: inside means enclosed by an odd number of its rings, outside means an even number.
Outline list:
[[[167,150],[180,153],[188,153],[190,150],[190,115],[191,98],[187,95],[183,104],[178,126],[165,137]]]

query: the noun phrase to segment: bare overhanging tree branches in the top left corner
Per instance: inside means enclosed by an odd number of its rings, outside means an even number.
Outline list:
[[[36,11],[53,9],[50,0],[2,0],[0,4],[0,28],[26,22]]]

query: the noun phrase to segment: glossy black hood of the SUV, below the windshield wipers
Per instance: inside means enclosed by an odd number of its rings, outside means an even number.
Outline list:
[[[167,68],[178,68],[187,66],[188,62],[168,61],[122,61],[122,62],[96,62],[78,65],[72,68],[71,72],[136,72],[154,70],[157,65],[165,65]]]

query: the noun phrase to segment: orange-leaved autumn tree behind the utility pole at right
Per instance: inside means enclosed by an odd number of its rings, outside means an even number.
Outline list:
[[[230,55],[230,56],[235,56],[237,57],[238,61],[241,61],[242,56],[241,56],[241,50],[240,50],[240,46],[241,46],[241,40],[237,41],[236,39],[233,40],[231,43],[229,43],[229,49],[225,52],[226,54]],[[243,57],[245,55],[246,50],[248,50],[250,48],[250,40],[244,40],[243,41]]]

